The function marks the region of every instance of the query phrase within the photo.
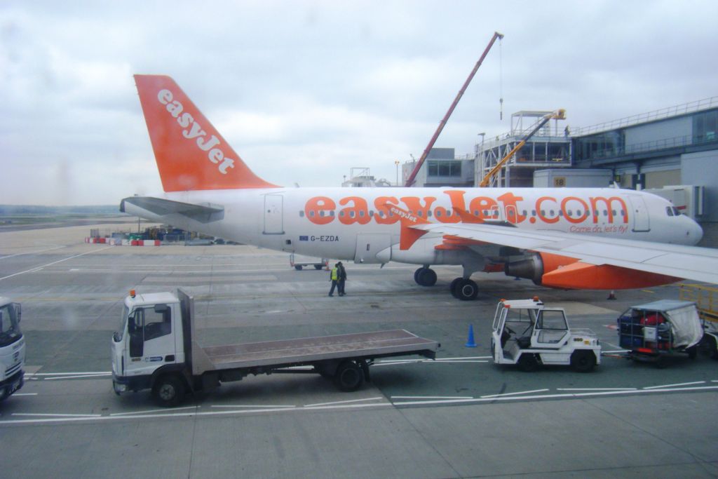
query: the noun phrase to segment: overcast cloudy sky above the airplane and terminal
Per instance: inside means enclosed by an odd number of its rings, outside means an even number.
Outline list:
[[[1,0],[0,204],[160,192],[134,73],[171,75],[269,182],[393,182],[494,31],[437,147],[520,110],[577,128],[718,96],[717,22],[714,0]]]

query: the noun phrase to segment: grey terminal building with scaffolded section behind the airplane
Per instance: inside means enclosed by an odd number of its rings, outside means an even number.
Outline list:
[[[546,111],[519,111],[511,131],[485,139],[472,158],[432,150],[417,186],[467,187],[516,147]],[[404,180],[414,162],[402,168]],[[718,246],[718,97],[573,129],[549,121],[501,167],[494,187],[606,187],[650,190],[704,228],[701,246]]]

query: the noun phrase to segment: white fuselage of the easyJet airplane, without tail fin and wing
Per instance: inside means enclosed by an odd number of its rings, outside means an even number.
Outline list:
[[[398,248],[396,205],[431,223],[460,223],[454,208],[518,228],[577,235],[693,245],[700,226],[677,215],[661,197],[617,188],[262,188],[165,193],[168,200],[221,205],[223,219],[208,223],[184,215],[154,215],[130,205],[127,213],[189,231],[309,256],[363,263],[462,264],[459,248],[436,248],[427,235]],[[472,248],[491,254],[498,246]],[[495,254],[495,253],[494,253]]]

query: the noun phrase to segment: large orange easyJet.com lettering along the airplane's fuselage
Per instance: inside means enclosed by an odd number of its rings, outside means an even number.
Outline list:
[[[374,198],[373,208],[370,208],[366,198],[360,196],[347,196],[338,201],[328,196],[315,196],[304,204],[304,215],[317,225],[327,225],[335,220],[345,225],[365,225],[370,222],[393,224],[401,218],[416,223],[417,217],[433,217],[439,223],[461,223],[462,217],[456,210],[466,211],[477,220],[501,218],[513,224],[526,221],[531,224],[553,224],[563,220],[578,227],[586,223],[598,225],[601,219],[609,225],[628,223],[629,211],[625,200],[620,196],[541,196],[529,203],[513,192],[505,192],[498,197],[471,198],[467,198],[466,192],[462,190],[446,190],[443,193],[448,197],[449,208],[434,207],[437,202],[435,196],[379,196]],[[408,210],[409,213],[400,208]],[[615,231],[602,228],[601,231],[623,233],[628,231],[628,228]],[[597,231],[591,228],[590,232]]]

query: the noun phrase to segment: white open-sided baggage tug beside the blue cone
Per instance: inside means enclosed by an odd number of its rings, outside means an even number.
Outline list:
[[[491,351],[497,364],[516,364],[523,371],[541,365],[570,365],[592,371],[601,363],[601,346],[588,329],[569,329],[561,308],[548,308],[537,297],[510,301],[496,307]]]

